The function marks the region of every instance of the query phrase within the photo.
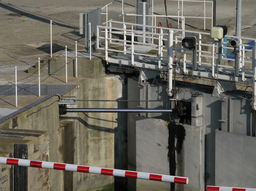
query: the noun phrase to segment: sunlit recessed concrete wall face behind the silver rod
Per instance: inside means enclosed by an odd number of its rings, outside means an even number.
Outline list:
[[[88,78],[64,96],[85,100],[126,100],[124,75]],[[76,108],[126,108],[126,102],[78,101]],[[125,113],[67,113],[60,118],[61,129],[69,134],[69,162],[115,169],[127,169],[127,114]],[[64,144],[64,145],[65,145]],[[62,147],[65,149],[65,146]],[[74,149],[74,150],[73,150]],[[64,153],[64,152],[61,152]],[[66,157],[67,154],[64,154]],[[64,157],[64,159],[65,159]],[[70,173],[70,176],[71,173]],[[126,178],[73,173],[73,190],[126,189]],[[115,185],[114,185],[115,184]]]

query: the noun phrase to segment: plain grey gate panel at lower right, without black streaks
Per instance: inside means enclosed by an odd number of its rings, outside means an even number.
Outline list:
[[[256,138],[215,131],[215,185],[256,187]]]

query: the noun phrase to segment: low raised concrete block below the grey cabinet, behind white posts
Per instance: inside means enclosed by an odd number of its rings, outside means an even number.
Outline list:
[[[67,57],[67,76],[76,77],[76,61],[74,59],[75,57]],[[43,63],[40,63],[40,74],[66,76],[65,65],[66,58],[64,56],[55,57],[53,59],[51,59],[50,56],[45,57]],[[103,58],[100,57],[93,57],[91,60],[83,57],[78,57],[77,67],[78,77],[99,78],[100,76],[105,75],[105,61],[103,60]],[[28,69],[28,73],[38,73],[38,63],[36,63],[35,68],[30,67]]]

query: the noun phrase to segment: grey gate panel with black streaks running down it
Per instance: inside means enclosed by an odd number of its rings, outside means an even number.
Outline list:
[[[188,185],[137,179],[137,190],[204,190],[205,127],[136,117],[136,170],[189,178]]]

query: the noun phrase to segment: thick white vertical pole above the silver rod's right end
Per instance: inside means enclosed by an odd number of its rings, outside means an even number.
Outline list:
[[[168,31],[168,95],[172,96],[172,57],[173,57],[173,30]]]

